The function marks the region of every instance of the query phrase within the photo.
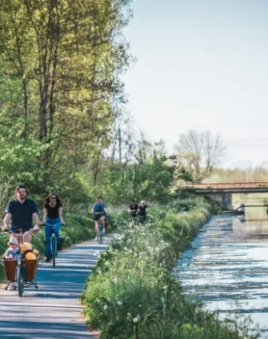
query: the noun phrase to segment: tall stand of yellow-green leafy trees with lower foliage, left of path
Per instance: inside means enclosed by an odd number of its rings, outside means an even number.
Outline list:
[[[126,102],[121,74],[131,59],[123,37],[130,3],[0,1],[0,170],[6,177],[35,193],[65,186],[68,194],[82,186],[81,178],[87,186],[91,177],[102,182],[109,170],[104,150]]]

